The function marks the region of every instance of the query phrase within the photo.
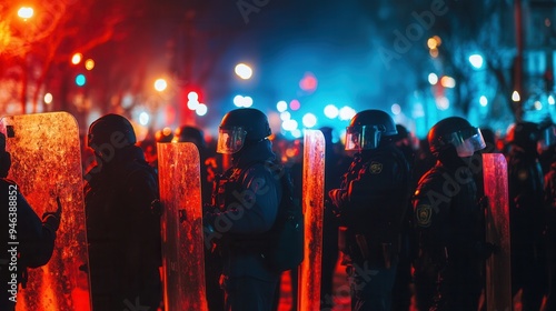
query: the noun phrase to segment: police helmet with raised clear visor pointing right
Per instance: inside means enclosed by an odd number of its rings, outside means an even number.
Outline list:
[[[437,122],[428,131],[427,139],[430,152],[435,156],[455,147],[457,156],[466,158],[486,147],[480,129],[459,117],[449,117]]]

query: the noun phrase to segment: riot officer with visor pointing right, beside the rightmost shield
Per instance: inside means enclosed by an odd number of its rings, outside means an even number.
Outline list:
[[[417,307],[477,310],[481,264],[492,248],[484,242],[470,157],[485,142],[480,130],[459,117],[436,123],[427,140],[437,162],[421,177],[413,197]]]

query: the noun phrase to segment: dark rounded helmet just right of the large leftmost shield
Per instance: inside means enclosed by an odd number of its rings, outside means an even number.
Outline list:
[[[133,127],[122,116],[109,113],[100,117],[89,127],[88,146],[97,149],[105,143],[118,147],[132,146],[137,142]]]

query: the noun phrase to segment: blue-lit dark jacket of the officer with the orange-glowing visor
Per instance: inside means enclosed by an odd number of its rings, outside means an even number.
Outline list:
[[[270,141],[245,147],[225,172],[227,190],[218,212],[207,220],[221,234],[224,274],[276,281],[278,273],[266,265],[256,241],[272,227],[281,198],[278,177],[271,170],[275,154]],[[255,245],[255,247],[254,247]]]

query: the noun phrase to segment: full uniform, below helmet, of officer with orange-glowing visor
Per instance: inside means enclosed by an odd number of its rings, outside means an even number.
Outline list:
[[[279,280],[261,257],[265,241],[259,240],[272,227],[281,198],[271,165],[265,163],[274,160],[269,144],[251,147],[224,173],[216,193],[220,210],[206,219],[218,232],[212,242],[224,260],[226,310],[270,310]]]

